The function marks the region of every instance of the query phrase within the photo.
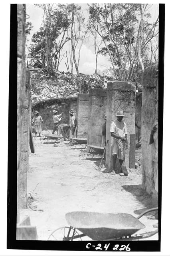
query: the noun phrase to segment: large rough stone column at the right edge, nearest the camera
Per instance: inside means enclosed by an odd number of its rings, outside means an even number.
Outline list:
[[[158,122],[158,65],[144,70],[142,91],[142,188],[158,200],[155,191],[158,164],[154,156],[158,151],[158,136],[154,135],[154,143],[149,145],[150,132]]]

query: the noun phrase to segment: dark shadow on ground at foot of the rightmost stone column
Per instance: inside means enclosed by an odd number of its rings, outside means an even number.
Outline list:
[[[124,185],[122,186],[124,190],[130,192],[133,196],[136,197],[136,200],[141,202],[144,205],[144,208],[134,210],[135,214],[140,214],[144,212],[146,209],[157,207],[157,204],[153,202],[150,195],[146,193],[145,190],[142,189],[141,184],[138,185]]]

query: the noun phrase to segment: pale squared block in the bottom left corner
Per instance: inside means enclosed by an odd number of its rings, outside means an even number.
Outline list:
[[[35,226],[17,226],[16,240],[37,240],[37,228]]]

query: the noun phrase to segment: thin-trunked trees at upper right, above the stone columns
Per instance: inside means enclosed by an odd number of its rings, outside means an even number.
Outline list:
[[[147,7],[148,4],[89,5],[93,28],[105,44],[99,52],[109,54],[117,80],[136,81],[139,68],[143,72],[148,44],[158,34],[158,18],[153,24],[148,23]]]

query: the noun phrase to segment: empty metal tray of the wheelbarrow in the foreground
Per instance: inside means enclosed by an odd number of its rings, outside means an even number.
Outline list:
[[[68,212],[67,223],[93,240],[131,236],[145,228],[137,218],[125,213]]]

